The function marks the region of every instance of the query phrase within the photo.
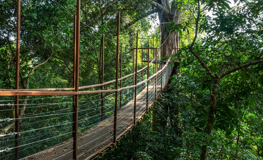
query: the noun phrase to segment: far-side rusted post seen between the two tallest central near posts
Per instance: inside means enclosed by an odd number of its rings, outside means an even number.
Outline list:
[[[102,57],[101,57],[101,83],[102,83],[102,86],[101,86],[101,89],[103,90],[103,83],[104,83],[104,34],[102,35]],[[104,97],[103,97],[103,93],[100,93],[100,96],[101,96],[101,117],[102,117],[102,120],[104,118]]]

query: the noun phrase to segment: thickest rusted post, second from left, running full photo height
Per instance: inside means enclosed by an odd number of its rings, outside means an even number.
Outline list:
[[[79,39],[80,39],[80,0],[77,0],[77,15],[76,15],[76,57],[75,57],[75,92],[79,91]],[[79,96],[74,96],[74,108],[73,108],[73,159],[77,160],[78,153],[78,100]]]

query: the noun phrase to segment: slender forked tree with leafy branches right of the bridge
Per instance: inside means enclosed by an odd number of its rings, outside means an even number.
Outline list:
[[[213,128],[223,128],[226,136],[236,129],[238,146],[244,113],[249,107],[261,105],[261,100],[257,101],[256,97],[257,94],[262,95],[262,2],[234,2],[241,6],[231,8],[229,1],[192,2],[195,4],[192,10],[195,36],[191,44],[184,46],[183,63],[202,68],[194,71],[203,75],[200,91],[208,88],[210,93],[209,108],[200,119],[205,120],[206,125],[202,123],[203,126],[199,125],[201,129],[197,130],[203,131],[205,137],[200,160],[207,157],[210,134],[216,136],[212,132]],[[213,12],[214,18],[205,14],[207,10]],[[187,25],[174,25],[174,29],[186,30]],[[201,40],[196,40],[202,32],[205,32],[205,36],[201,35]],[[189,58],[191,61],[187,62]],[[244,83],[250,85],[245,86]],[[254,86],[254,83],[257,86],[255,89],[259,91],[257,93],[246,89]],[[233,97],[229,92],[232,92]]]

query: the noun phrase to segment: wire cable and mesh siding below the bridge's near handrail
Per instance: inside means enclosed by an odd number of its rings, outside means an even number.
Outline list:
[[[172,67],[161,65],[160,58],[149,66],[148,104],[155,101],[167,83]],[[157,68],[157,75],[153,76]],[[163,70],[161,71],[161,68]],[[147,81],[134,87],[134,77],[118,81],[122,87],[117,95],[117,137],[134,124],[134,96],[136,94],[136,121],[143,116],[147,106]],[[137,84],[147,79],[147,67],[137,72]],[[135,79],[136,81],[136,79]],[[94,90],[101,90],[101,87]],[[115,89],[115,82],[104,85]],[[102,98],[103,97],[103,98]],[[18,149],[18,159],[72,159],[73,157],[73,96],[20,96],[1,97],[0,104],[0,156],[13,159]],[[19,108],[19,132],[15,132],[15,108]],[[78,100],[78,159],[94,156],[114,138],[115,92],[80,94]],[[5,133],[5,134],[3,134]],[[15,139],[14,135],[19,134]],[[19,146],[16,146],[16,141]]]

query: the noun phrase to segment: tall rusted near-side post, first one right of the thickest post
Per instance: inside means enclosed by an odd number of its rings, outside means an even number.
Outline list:
[[[117,51],[116,51],[116,81],[115,89],[118,89],[118,77],[119,77],[119,43],[120,43],[120,12],[117,15]],[[118,91],[115,92],[115,110],[114,110],[114,137],[113,143],[117,140],[117,108],[118,108]]]

